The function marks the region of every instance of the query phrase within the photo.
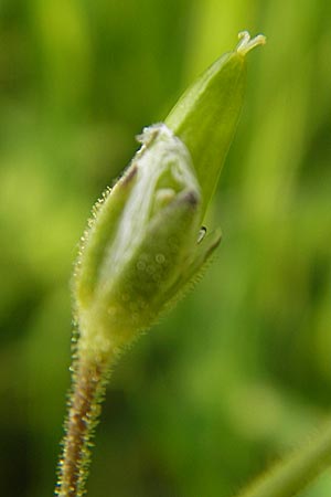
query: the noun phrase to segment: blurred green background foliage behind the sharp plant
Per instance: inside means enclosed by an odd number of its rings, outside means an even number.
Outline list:
[[[329,415],[330,19],[330,0],[0,0],[1,495],[53,493],[92,204],[243,29],[268,44],[206,223],[224,240],[119,362],[89,495],[227,497]]]

